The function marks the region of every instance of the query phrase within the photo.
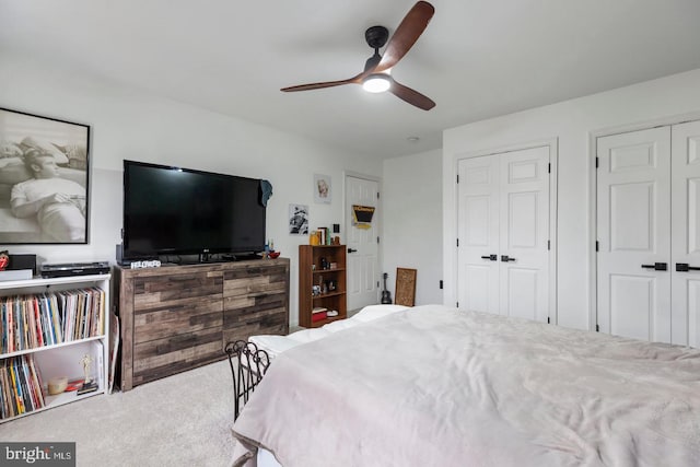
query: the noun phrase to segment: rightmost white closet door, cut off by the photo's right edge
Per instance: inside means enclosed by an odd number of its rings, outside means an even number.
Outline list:
[[[700,347],[700,121],[672,135],[672,342]]]

